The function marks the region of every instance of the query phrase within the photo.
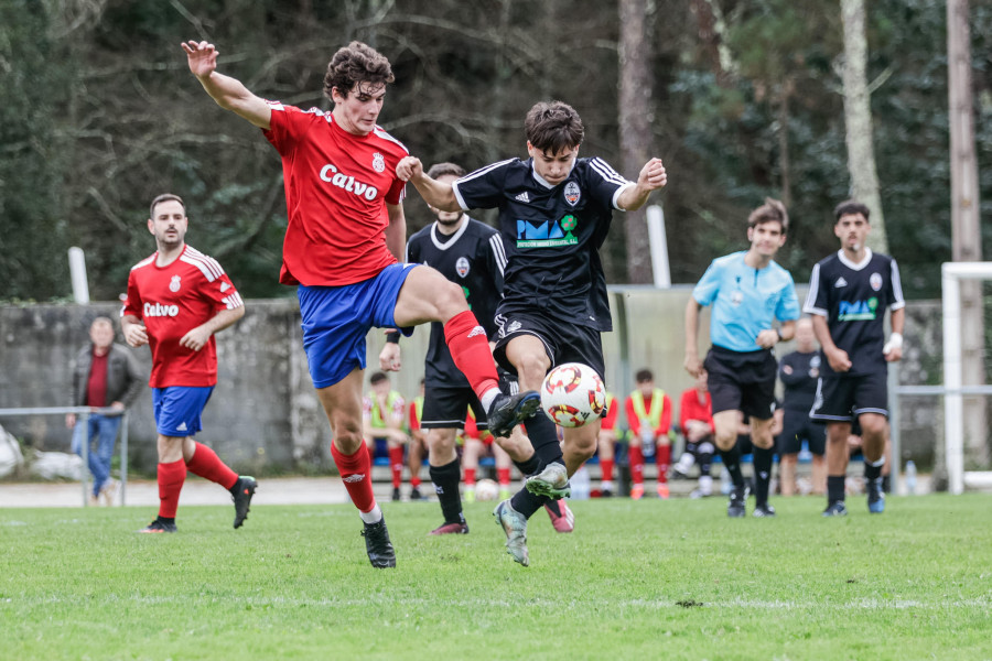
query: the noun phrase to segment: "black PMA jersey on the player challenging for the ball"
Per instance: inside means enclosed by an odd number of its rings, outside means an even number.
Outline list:
[[[619,194],[633,185],[602,159],[576,159],[556,186],[530,159],[494,163],[456,181],[463,209],[499,209],[507,253],[499,314],[537,313],[612,330],[599,249]]]

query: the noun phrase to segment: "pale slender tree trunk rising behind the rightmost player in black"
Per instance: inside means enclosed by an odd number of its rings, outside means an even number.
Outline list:
[[[878,195],[878,174],[872,142],[871,97],[865,76],[867,39],[864,30],[864,0],[841,0],[841,15],[844,23],[844,122],[851,194],[871,210],[869,247],[887,254],[888,239],[885,236],[882,198]]]

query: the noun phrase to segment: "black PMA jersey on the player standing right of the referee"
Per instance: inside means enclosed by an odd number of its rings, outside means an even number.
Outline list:
[[[809,278],[802,311],[827,317],[833,344],[848,353],[848,375],[864,375],[885,367],[885,308],[905,307],[899,268],[887,254],[865,249],[861,263],[843,251],[820,260]],[[834,373],[823,357],[821,372]]]

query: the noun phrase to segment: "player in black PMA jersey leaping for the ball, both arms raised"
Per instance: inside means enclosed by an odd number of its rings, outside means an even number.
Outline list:
[[[499,209],[507,267],[494,355],[517,373],[521,388],[530,389],[539,388],[561,362],[583,362],[603,376],[600,332],[611,330],[612,321],[599,248],[613,210],[644,206],[666,184],[667,174],[661,161],[651,159],[635,183],[601,159],[578,158],[582,120],[561,101],[535,105],[524,128],[526,161],[493,163],[448,184],[427,176],[420,161],[408,156],[397,175],[440,209]],[[525,424],[541,472],[495,512],[507,534],[507,551],[522,565],[529,563],[527,519],[550,497],[570,492],[569,476],[595,453],[600,431],[599,421],[564,430],[559,445],[547,416]]]

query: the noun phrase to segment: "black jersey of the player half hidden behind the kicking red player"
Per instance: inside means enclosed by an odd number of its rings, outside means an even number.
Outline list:
[[[438,224],[432,223],[407,241],[407,262],[427,264],[461,285],[468,308],[486,329],[486,336],[495,337],[496,306],[503,295],[506,267],[499,232],[467,216],[462,216],[462,226],[453,235],[441,234]],[[468,380],[451,357],[440,322],[431,324],[423,377],[424,384],[431,388],[468,388]]]

